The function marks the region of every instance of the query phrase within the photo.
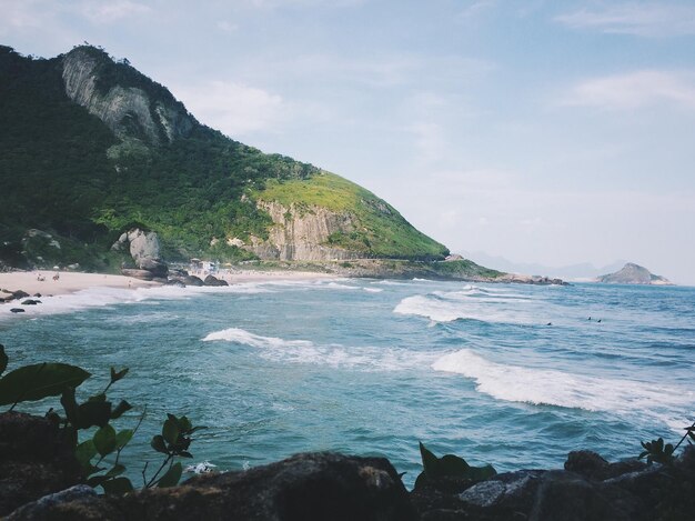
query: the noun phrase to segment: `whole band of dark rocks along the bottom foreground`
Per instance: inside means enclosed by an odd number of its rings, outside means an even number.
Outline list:
[[[0,515],[8,520],[278,521],[692,520],[695,450],[672,465],[572,452],[564,470],[522,470],[407,492],[384,458],[304,453],[170,489],[99,495],[47,420],[0,414]]]

